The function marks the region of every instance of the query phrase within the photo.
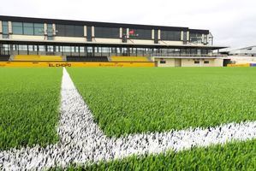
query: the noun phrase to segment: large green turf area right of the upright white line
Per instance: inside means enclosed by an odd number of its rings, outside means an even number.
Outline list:
[[[68,68],[108,136],[256,120],[256,68]]]

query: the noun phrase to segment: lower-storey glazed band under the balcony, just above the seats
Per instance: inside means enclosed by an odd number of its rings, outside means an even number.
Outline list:
[[[58,56],[214,56],[205,48],[141,48],[100,45],[0,44],[1,55],[58,55]],[[33,53],[32,53],[33,52]]]

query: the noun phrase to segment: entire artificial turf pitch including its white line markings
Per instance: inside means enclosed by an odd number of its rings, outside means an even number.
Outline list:
[[[67,71],[0,68],[0,169],[256,168],[254,68]]]

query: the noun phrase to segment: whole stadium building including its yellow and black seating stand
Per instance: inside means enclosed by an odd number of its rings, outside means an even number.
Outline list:
[[[209,30],[0,16],[0,60],[9,63],[213,67],[223,66],[213,53],[222,48]]]

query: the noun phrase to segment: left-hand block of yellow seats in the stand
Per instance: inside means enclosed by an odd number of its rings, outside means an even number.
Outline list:
[[[27,62],[62,62],[62,56],[39,56],[39,55],[18,55],[15,56],[14,61],[27,61]]]

